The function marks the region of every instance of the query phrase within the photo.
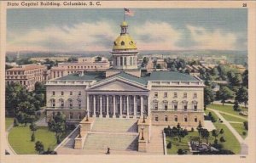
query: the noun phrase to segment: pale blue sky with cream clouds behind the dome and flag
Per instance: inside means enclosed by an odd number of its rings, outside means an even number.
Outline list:
[[[245,8],[131,8],[126,17],[141,50],[247,50]],[[8,50],[111,50],[119,9],[8,9]]]

